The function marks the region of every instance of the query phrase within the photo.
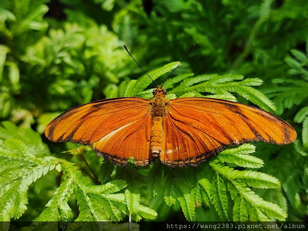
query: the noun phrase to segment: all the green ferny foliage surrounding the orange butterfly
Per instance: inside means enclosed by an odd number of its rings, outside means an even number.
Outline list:
[[[129,213],[134,214],[132,219],[136,221],[156,216],[156,221],[181,221],[184,215],[197,221],[305,220],[308,215],[307,19],[306,0],[2,0],[0,119],[10,120],[19,130],[13,124],[3,125],[6,129],[2,128],[0,134],[1,161],[5,161],[5,155],[17,158],[19,154],[25,157],[31,153],[32,162],[25,164],[20,156],[18,160],[13,158],[11,165],[1,168],[0,173],[15,176],[16,172],[10,172],[12,169],[24,172],[35,166],[43,169],[42,173],[31,176],[32,180],[23,182],[18,178],[20,195],[4,193],[8,189],[0,191],[1,196],[6,195],[5,200],[23,198],[20,207],[13,203],[13,207],[6,208],[13,212],[9,217],[1,216],[2,220],[14,217],[20,221],[35,218],[39,221],[59,216],[59,220],[128,221],[125,214]],[[269,97],[277,107],[276,114],[296,129],[298,139],[294,144],[287,147],[254,144],[255,153],[250,146],[244,146],[245,151],[239,147],[233,159],[226,157],[228,152],[225,157],[221,154],[202,168],[194,169],[195,176],[190,176],[187,170],[162,168],[157,163],[137,170],[133,165],[115,168],[91,150],[61,153],[75,150],[79,145],[51,143],[44,137],[45,126],[71,107],[116,96],[151,97],[155,85],[136,66],[124,44],[151,76],[157,75],[156,79],[171,71],[175,67],[171,62],[181,60],[192,43],[196,43],[195,48],[164,85],[168,97],[201,94],[243,103],[250,101],[274,111]],[[242,75],[248,79],[243,80]],[[157,79],[158,83],[164,78]],[[259,91],[253,88],[260,85]],[[42,134],[43,142],[31,129]],[[33,139],[23,140],[23,136]],[[256,157],[248,155],[251,153]],[[238,159],[244,158],[244,154],[250,156],[246,156],[249,159],[246,164]],[[92,171],[99,175],[98,179],[87,168],[83,155]],[[50,163],[48,169],[44,170],[44,163]],[[241,195],[250,193],[253,197],[239,196],[240,191],[230,185],[234,179],[225,173],[233,168],[240,171],[232,177],[239,179],[240,174],[247,174],[250,180],[264,179],[259,183],[252,180],[253,184],[246,182],[246,191]],[[260,168],[263,173],[249,168]],[[155,177],[157,174],[159,179]],[[154,182],[152,186],[141,183],[146,178]],[[187,183],[189,179],[195,182]],[[63,216],[50,215],[48,211],[61,198],[56,200],[69,180],[75,186],[63,194],[63,207],[59,205],[66,212]],[[108,210],[107,202],[96,198],[95,193],[105,192],[104,185],[119,183],[116,180],[122,180],[121,187],[107,194],[117,196],[106,197],[118,201],[113,201],[114,207]],[[85,188],[81,190],[82,184]],[[211,188],[217,188],[219,193],[210,193]],[[88,197],[81,197],[80,192]],[[25,206],[27,200],[29,204]],[[96,201],[93,208],[98,213],[92,214],[91,219],[86,214],[92,212],[92,207],[83,203],[89,200]],[[243,200],[246,206],[240,206]],[[265,207],[254,209],[257,201]],[[4,206],[1,199],[0,206]],[[116,211],[121,211],[123,217]]]

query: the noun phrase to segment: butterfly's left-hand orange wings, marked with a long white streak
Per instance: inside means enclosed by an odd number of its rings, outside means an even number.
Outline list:
[[[137,97],[104,99],[74,107],[45,129],[55,142],[94,144],[97,155],[123,166],[133,156],[136,164],[155,160],[150,153],[151,101]]]

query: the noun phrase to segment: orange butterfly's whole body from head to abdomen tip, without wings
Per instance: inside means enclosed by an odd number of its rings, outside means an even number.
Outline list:
[[[154,98],[152,104],[152,133],[151,133],[151,153],[152,156],[158,156],[161,152],[163,141],[163,118],[166,114],[166,91],[157,87],[153,91]]]

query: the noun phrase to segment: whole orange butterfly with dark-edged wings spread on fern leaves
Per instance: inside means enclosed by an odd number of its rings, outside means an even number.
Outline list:
[[[259,108],[211,98],[167,100],[166,93],[157,86],[152,100],[120,97],[74,107],[51,121],[45,135],[55,142],[94,144],[98,156],[119,166],[130,157],[144,166],[159,156],[170,167],[197,166],[227,146],[282,145],[296,138],[290,124]]]

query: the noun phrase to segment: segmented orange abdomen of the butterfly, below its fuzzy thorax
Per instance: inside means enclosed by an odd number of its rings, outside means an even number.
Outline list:
[[[161,152],[163,142],[163,117],[153,116],[153,126],[151,134],[151,152],[152,156],[158,156]]]

